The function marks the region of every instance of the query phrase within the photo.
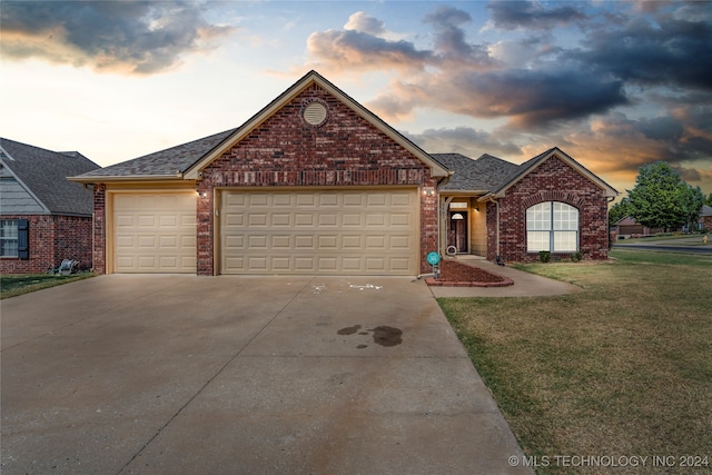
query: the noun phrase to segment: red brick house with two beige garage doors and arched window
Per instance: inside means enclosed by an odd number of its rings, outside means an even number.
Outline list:
[[[467,215],[467,251],[491,259],[547,243],[607,256],[615,190],[561,150],[522,166],[448,157],[312,71],[237,129],[71,179],[95,190],[99,273],[416,275],[445,253],[449,209]]]

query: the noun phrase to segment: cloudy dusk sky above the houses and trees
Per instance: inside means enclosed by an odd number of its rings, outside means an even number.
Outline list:
[[[0,135],[106,167],[239,127],[316,70],[428,152],[560,147],[712,194],[712,2],[0,1]]]

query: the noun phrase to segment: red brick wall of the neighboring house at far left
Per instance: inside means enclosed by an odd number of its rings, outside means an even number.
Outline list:
[[[43,273],[59,267],[65,259],[79,260],[81,269],[92,267],[90,217],[3,215],[2,219],[28,220],[30,258],[0,258],[0,273]]]

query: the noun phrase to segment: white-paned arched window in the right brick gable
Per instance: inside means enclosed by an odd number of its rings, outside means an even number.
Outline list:
[[[578,250],[578,210],[558,201],[534,205],[526,210],[526,251],[575,253]]]

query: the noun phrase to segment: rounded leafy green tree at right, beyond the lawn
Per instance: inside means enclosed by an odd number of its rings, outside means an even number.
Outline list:
[[[631,216],[649,228],[672,230],[696,222],[704,195],[665,161],[644,165],[627,190]],[[693,219],[694,218],[694,219]]]

